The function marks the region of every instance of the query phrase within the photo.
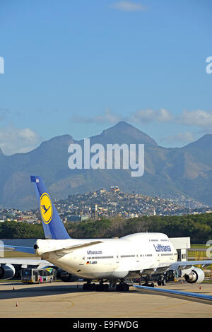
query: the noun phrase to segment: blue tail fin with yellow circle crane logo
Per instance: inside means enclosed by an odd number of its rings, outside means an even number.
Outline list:
[[[66,228],[52,203],[47,188],[41,177],[31,177],[31,182],[35,185],[38,206],[40,207],[40,215],[42,218],[42,227],[45,232],[46,239],[70,239]]]

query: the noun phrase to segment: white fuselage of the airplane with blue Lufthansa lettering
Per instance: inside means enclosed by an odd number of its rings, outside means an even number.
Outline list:
[[[160,273],[177,261],[177,251],[167,235],[136,233],[78,249],[57,249],[95,242],[97,239],[38,239],[36,254],[81,278],[136,278]]]

